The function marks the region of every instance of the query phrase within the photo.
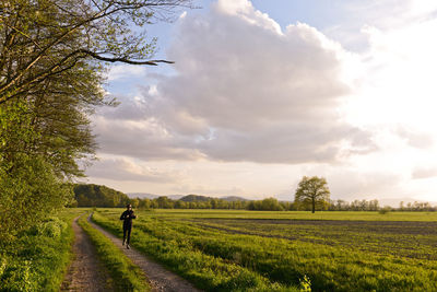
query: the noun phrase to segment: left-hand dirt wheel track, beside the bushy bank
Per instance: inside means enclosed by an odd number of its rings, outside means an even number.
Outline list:
[[[60,291],[111,291],[110,278],[98,261],[96,250],[85,232],[79,226],[75,218],[73,252],[75,258],[71,264]]]

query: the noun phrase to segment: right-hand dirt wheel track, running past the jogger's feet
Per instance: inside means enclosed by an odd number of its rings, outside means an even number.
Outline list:
[[[103,234],[105,234],[117,247],[119,247],[125,255],[127,255],[129,258],[132,259],[133,264],[139,266],[146,275],[149,278],[151,285],[152,285],[152,291],[175,291],[175,292],[194,292],[194,291],[200,291],[196,289],[191,283],[189,283],[187,280],[180,278],[179,276],[175,275],[174,272],[165,269],[161,265],[152,261],[144,255],[140,254],[137,249],[131,247],[130,249],[127,249],[125,246],[121,244],[121,240],[117,238],[109,232],[105,231],[101,226],[94,224],[91,222],[88,218],[90,223],[92,224],[93,227],[96,230],[101,231]],[[120,226],[121,227],[121,226]]]

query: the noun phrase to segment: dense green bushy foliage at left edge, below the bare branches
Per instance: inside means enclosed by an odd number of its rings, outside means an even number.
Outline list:
[[[22,102],[0,106],[0,245],[62,208],[72,196],[45,156],[33,153],[31,145],[39,133],[29,127],[32,117],[23,114],[27,109]]]

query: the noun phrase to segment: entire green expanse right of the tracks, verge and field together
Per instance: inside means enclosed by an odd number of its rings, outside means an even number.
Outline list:
[[[94,221],[120,235],[121,209]],[[132,245],[208,291],[437,291],[437,214],[137,211]]]

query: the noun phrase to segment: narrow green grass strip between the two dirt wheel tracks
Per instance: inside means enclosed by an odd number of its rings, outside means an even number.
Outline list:
[[[108,269],[117,291],[151,291],[142,270],[133,265],[131,259],[115,246],[109,238],[91,226],[86,218],[86,215],[81,217],[78,221],[79,225],[96,247],[97,256]]]

